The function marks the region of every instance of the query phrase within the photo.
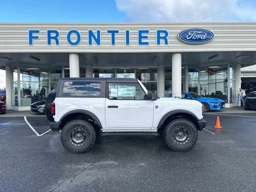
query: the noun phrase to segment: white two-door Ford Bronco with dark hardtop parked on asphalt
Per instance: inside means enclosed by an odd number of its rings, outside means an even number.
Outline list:
[[[46,100],[52,131],[63,146],[83,153],[96,136],[162,135],[171,150],[190,150],[206,126],[196,100],[159,98],[132,78],[61,78]]]

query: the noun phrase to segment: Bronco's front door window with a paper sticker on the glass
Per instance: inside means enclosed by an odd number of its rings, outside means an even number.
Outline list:
[[[146,95],[138,83],[108,83],[109,99],[143,100]]]

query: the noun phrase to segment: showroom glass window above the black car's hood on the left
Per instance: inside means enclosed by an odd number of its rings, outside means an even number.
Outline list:
[[[49,94],[48,82],[49,70],[47,68],[20,66],[19,106],[30,106],[34,102],[46,100]]]

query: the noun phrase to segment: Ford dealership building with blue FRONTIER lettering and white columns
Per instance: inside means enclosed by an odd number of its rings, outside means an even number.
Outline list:
[[[30,110],[62,77],[137,78],[158,96],[194,92],[236,106],[256,64],[256,23],[0,23],[6,106]]]

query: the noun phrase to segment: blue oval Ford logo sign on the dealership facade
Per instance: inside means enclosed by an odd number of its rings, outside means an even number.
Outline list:
[[[214,33],[207,29],[185,29],[178,34],[178,40],[187,44],[203,44],[214,38]]]

